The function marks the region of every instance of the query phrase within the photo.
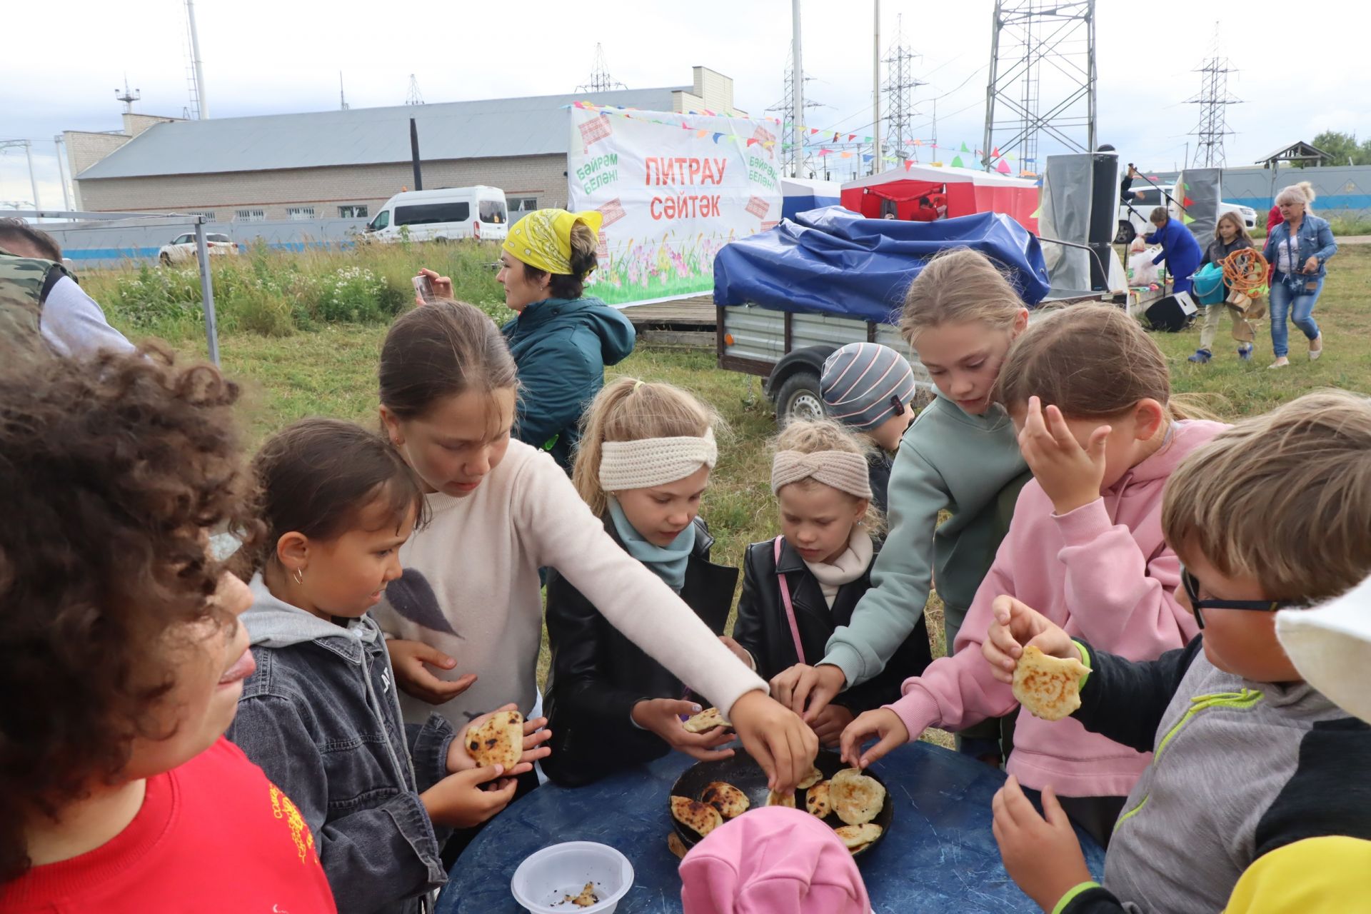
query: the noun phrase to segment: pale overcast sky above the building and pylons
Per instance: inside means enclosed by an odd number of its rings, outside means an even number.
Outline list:
[[[1371,134],[1371,52],[1352,21],[1364,5],[1342,3],[1100,0],[1098,141],[1149,170],[1183,162],[1200,115],[1185,103],[1200,90],[1193,69],[1216,21],[1238,70],[1230,92],[1243,100],[1228,107],[1228,164],[1324,129]],[[939,96],[939,143],[979,145],[993,0],[880,5],[882,45],[903,14],[905,41],[921,55],[914,75],[930,85],[916,90],[920,134],[931,134],[930,100]],[[790,10],[788,0],[202,0],[196,16],[215,118],[337,108],[339,71],[358,108],[403,103],[411,73],[429,103],[572,92],[587,82],[596,42],[629,88],[686,85],[691,66],[703,64],[733,78],[738,107],[761,114],[783,95]],[[808,121],[871,133],[872,4],[803,0],[802,11],[808,95],[824,103]],[[141,89],[136,111],[178,116],[189,103],[182,0],[8,4],[4,23],[0,140],[33,140],[48,208],[62,201],[52,137],[118,129],[114,89],[125,74]],[[1043,101],[1052,95],[1045,78]],[[23,151],[0,152],[0,206],[32,196]]]

